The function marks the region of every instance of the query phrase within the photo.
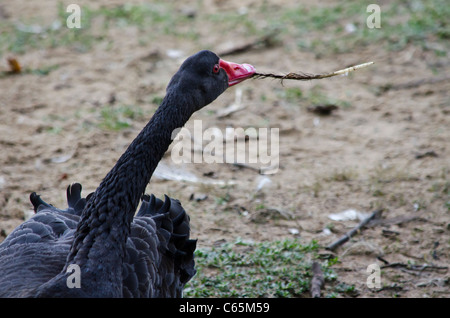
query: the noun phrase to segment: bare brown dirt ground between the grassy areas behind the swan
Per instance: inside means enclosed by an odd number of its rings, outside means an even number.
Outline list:
[[[90,6],[119,3],[105,0]],[[31,210],[31,192],[64,207],[70,183],[82,183],[86,195],[94,191],[151,117],[187,56],[204,48],[223,52],[257,38],[202,21],[203,15],[224,10],[251,15],[255,1],[186,3],[180,10],[195,15],[192,27],[200,39],[157,36],[149,30],[151,40],[142,44],[137,27],[112,27],[109,40],[86,51],[67,45],[1,57],[0,71],[8,70],[10,56],[23,68],[58,67],[46,75],[0,78],[0,240]],[[298,1],[282,3],[286,7]],[[54,1],[9,1],[1,8],[1,19],[50,25],[57,17]],[[348,77],[283,84],[252,79],[228,89],[186,127],[201,119],[203,129],[279,128],[278,172],[260,175],[226,163],[174,165],[168,153],[147,191],[182,202],[199,247],[236,238],[258,242],[287,237],[327,246],[359,223],[335,221],[331,214],[353,209],[368,215],[383,209],[381,223],[334,251],[338,281],[354,285],[357,297],[449,297],[450,81],[427,82],[449,74],[448,57],[417,45],[388,50],[379,43],[318,55],[298,49],[295,40],[295,35],[283,34],[273,46],[224,59],[274,73],[375,64]],[[383,91],[386,84],[398,86]],[[233,104],[239,90],[243,109],[220,117],[218,112]],[[299,90],[303,97],[286,97],[286,92]],[[340,101],[338,109],[330,115],[308,111],[313,102],[305,96],[314,91]],[[121,105],[135,105],[138,115],[127,119],[123,129],[105,128],[101,111]],[[167,180],[167,171],[198,180]],[[382,269],[382,287],[370,289],[367,267],[385,265],[383,260],[391,265]]]

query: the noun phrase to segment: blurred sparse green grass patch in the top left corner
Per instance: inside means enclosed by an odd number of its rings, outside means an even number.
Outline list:
[[[86,52],[98,42],[112,41],[108,39],[108,30],[112,27],[137,26],[146,38],[152,34],[196,37],[192,28],[186,27],[188,18],[163,1],[99,9],[82,6],[81,28],[66,26],[70,14],[66,12],[66,5],[60,2],[58,16],[53,21],[38,17],[27,21],[0,20],[0,56],[6,52],[22,54],[32,49],[61,46]],[[150,34],[148,30],[151,30]]]

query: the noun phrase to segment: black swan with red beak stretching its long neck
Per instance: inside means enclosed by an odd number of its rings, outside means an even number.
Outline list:
[[[32,193],[36,213],[0,244],[0,296],[181,297],[195,274],[189,217],[179,201],[144,191],[172,131],[254,72],[210,51],[196,53],[95,192],[82,198],[81,185],[72,184],[65,210]]]

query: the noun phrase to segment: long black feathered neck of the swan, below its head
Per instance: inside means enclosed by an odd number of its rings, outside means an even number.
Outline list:
[[[77,264],[82,275],[91,276],[89,281],[118,286],[120,295],[122,261],[133,216],[172,141],[172,132],[184,126],[192,114],[189,105],[193,101],[183,98],[168,92],[152,119],[103,179],[83,210],[63,271]]]

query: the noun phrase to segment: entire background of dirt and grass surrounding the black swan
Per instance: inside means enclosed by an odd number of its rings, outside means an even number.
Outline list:
[[[168,155],[147,191],[191,216],[187,297],[308,297],[314,261],[324,297],[449,296],[446,1],[77,1],[69,28],[72,2],[0,2],[0,240],[31,192],[65,207],[70,183],[94,191],[201,49],[277,74],[373,61],[346,77],[249,79],[186,125],[279,128],[276,174]],[[374,263],[385,268],[371,289]]]

